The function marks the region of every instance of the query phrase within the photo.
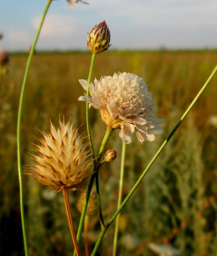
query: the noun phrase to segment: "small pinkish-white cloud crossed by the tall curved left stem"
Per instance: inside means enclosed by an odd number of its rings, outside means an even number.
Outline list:
[[[35,29],[38,29],[41,16],[36,16],[32,20]],[[68,36],[73,32],[73,18],[71,16],[61,16],[59,14],[47,14],[40,37]]]

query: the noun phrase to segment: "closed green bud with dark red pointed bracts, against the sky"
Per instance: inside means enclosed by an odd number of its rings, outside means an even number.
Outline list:
[[[101,53],[110,47],[110,31],[105,20],[87,34],[87,46],[92,53]]]

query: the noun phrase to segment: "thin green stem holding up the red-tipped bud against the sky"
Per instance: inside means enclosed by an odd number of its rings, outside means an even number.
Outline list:
[[[96,60],[96,53],[92,54],[92,59],[91,59],[91,64],[90,64],[90,72],[89,72],[89,76],[88,76],[88,83],[90,84],[91,82],[91,78],[92,78],[92,74],[93,74],[93,70],[94,70],[94,63]],[[87,96],[90,95],[90,91],[89,91],[89,86],[87,88]],[[87,123],[87,133],[88,133],[88,138],[89,138],[89,142],[90,142],[90,149],[91,149],[91,153],[93,155],[93,159],[94,159],[94,168],[96,168],[96,159],[95,159],[95,154],[94,154],[94,146],[93,146],[93,142],[92,142],[92,138],[91,138],[91,133],[90,133],[90,123],[89,123],[89,103],[86,103],[86,123]]]

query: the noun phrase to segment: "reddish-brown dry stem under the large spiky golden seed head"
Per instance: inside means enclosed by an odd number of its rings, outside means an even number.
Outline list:
[[[71,237],[72,237],[73,244],[75,246],[75,252],[76,252],[77,256],[81,256],[79,247],[78,247],[78,241],[77,241],[76,234],[75,234],[75,228],[74,228],[73,221],[71,218],[71,211],[70,211],[70,206],[69,206],[69,191],[68,191],[68,189],[63,189],[62,193],[63,193],[64,203],[65,203],[65,207],[66,207],[66,215],[67,215],[68,222],[69,222],[69,228],[71,231]]]

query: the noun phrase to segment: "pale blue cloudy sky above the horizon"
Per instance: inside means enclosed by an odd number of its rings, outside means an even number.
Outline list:
[[[88,31],[106,21],[111,49],[217,48],[216,0],[53,0],[37,50],[87,50]],[[0,50],[32,45],[46,0],[0,1]]]

